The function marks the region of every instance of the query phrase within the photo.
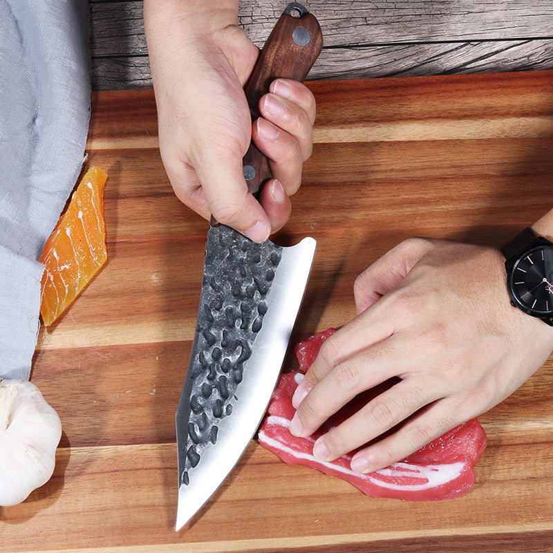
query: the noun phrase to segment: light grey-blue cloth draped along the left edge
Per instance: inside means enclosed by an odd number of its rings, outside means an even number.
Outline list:
[[[30,375],[38,259],[84,160],[89,34],[86,0],[0,0],[0,378]]]

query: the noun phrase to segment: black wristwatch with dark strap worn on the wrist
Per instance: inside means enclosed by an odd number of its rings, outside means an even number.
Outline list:
[[[553,243],[526,228],[501,252],[511,303],[553,326]]]

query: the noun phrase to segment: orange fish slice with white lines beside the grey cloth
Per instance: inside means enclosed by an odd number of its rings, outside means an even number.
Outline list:
[[[91,167],[71,197],[66,212],[44,245],[40,314],[52,324],[108,259],[104,224],[107,175]]]

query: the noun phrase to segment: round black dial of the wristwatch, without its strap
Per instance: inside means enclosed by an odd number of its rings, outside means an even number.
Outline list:
[[[553,246],[534,247],[516,261],[509,277],[509,292],[529,315],[553,314]]]

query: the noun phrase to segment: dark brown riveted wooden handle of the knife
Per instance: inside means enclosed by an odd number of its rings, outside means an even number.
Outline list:
[[[279,77],[303,82],[323,48],[319,21],[300,3],[288,4],[269,35],[244,86],[252,122],[260,117],[259,100]],[[243,158],[244,178],[254,196],[272,178],[268,159],[252,142]]]

